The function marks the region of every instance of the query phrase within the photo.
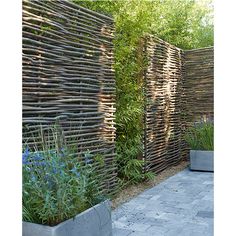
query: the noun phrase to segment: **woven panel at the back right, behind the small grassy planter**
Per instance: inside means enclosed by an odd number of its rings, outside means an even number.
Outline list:
[[[188,121],[214,118],[214,48],[188,50],[185,54],[184,90]]]

